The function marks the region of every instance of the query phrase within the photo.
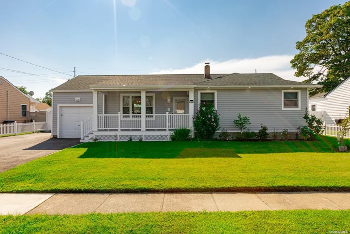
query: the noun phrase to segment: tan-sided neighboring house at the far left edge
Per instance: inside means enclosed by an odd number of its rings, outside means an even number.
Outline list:
[[[30,106],[38,102],[0,76],[0,124],[8,120],[28,122]]]

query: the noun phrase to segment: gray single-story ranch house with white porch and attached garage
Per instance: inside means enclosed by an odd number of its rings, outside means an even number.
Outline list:
[[[236,132],[238,113],[251,131],[296,131],[304,125],[308,91],[319,85],[272,73],[77,76],[52,90],[52,134],[83,140],[166,140],[175,128],[193,130],[200,102],[213,103],[220,131]],[[90,133],[90,134],[88,134]],[[164,138],[165,137],[165,138]]]

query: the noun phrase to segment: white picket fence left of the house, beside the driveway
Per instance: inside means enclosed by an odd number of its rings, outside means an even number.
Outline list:
[[[17,135],[18,133],[26,132],[41,132],[47,131],[46,122],[35,122],[32,123],[6,123],[0,124],[0,136],[3,135]]]

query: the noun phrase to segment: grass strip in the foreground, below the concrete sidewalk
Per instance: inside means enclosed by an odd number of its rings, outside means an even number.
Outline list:
[[[329,233],[349,227],[350,210],[0,216],[0,233]]]

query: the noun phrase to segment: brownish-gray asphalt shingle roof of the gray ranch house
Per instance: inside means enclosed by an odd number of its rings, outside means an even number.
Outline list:
[[[272,73],[257,74],[210,74],[205,79],[203,74],[174,75],[105,75],[77,76],[53,90],[88,90],[90,86],[106,85],[196,85],[196,86],[275,86],[275,85],[312,85],[284,80]]]

